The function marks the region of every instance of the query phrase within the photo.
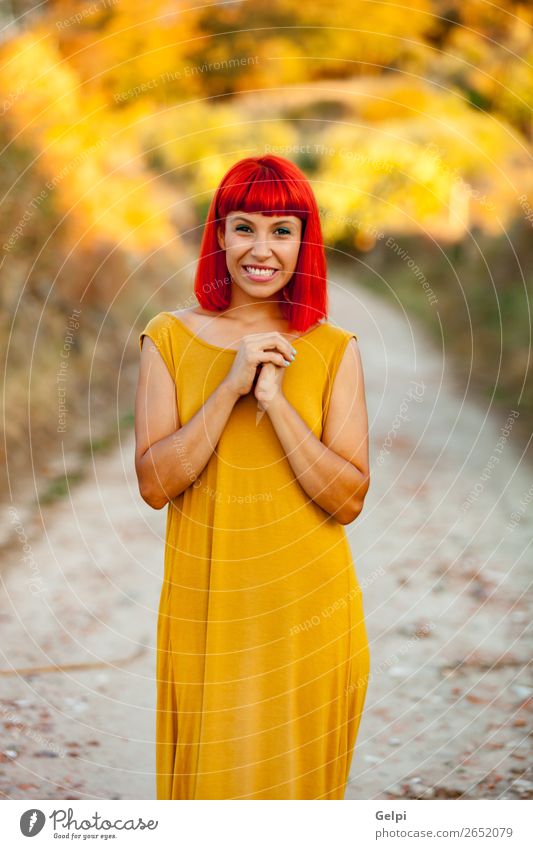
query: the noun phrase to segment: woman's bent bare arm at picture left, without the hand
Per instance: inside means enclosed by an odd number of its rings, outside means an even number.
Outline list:
[[[239,394],[227,381],[180,427],[176,387],[157,347],[145,336],[135,399],[135,469],[139,491],[160,510],[198,477]]]

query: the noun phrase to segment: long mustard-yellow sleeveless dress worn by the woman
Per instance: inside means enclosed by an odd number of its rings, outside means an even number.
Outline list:
[[[176,384],[180,425],[236,351],[171,312],[140,334]],[[349,339],[323,323],[293,339],[283,393],[321,437]],[[355,338],[357,338],[355,336]],[[209,462],[167,506],[157,625],[158,799],[343,799],[370,652],[344,525],[298,483],[253,392]],[[185,450],[176,451],[187,468]]]

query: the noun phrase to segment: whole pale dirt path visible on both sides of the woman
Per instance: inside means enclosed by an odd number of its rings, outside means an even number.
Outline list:
[[[533,488],[513,417],[502,432],[465,401],[424,334],[367,292],[333,275],[331,302],[359,335],[372,433],[349,533],[373,671],[347,798],[531,798]],[[0,666],[34,671],[0,675],[3,798],[154,798],[165,513],[138,495],[131,435],[64,502],[12,514]],[[64,668],[35,671],[50,664]]]

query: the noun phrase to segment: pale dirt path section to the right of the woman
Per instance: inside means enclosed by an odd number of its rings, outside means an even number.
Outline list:
[[[362,331],[373,470],[349,530],[373,677],[347,798],[531,798],[531,515],[507,526],[533,475],[514,418],[465,399],[398,312],[334,295]]]

